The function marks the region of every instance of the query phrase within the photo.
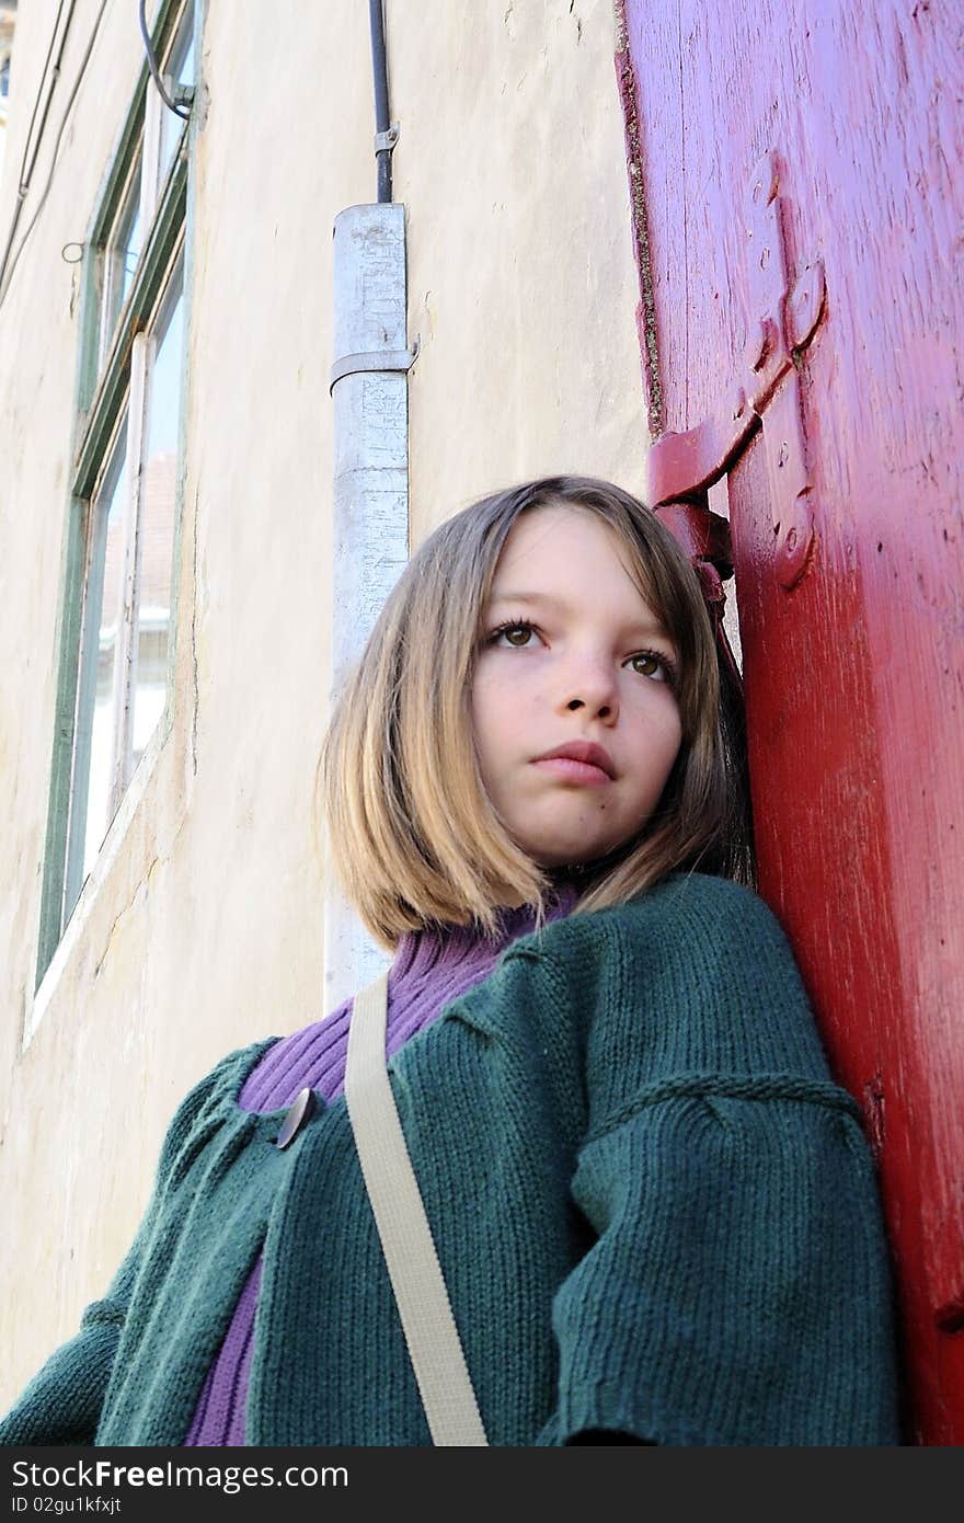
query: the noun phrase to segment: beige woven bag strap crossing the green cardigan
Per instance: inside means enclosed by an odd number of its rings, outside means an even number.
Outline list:
[[[385,1068],[388,975],[355,996],[344,1098],[433,1444],[487,1444]]]

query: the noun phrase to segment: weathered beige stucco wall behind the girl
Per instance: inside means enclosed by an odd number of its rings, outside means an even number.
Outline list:
[[[78,6],[70,81],[96,8]],[[35,0],[18,20],[3,228],[55,9]],[[422,343],[413,541],[538,472],[638,489],[609,0],[388,0],[387,43]],[[282,0],[257,26],[235,6],[206,20],[174,722],[108,833],[21,1051],[79,337],[61,247],[85,236],[140,59],[136,8],[108,6],[0,311],[0,1407],[105,1287],[186,1089],[227,1049],[323,1013],[312,784],[332,617],[330,248],[335,215],[375,198],[372,64],[367,6]]]

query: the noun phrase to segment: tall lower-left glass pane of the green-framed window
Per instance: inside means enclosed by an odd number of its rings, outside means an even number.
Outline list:
[[[90,504],[91,548],[76,725],[78,755],[82,755],[88,742],[90,762],[85,780],[75,775],[75,793],[78,789],[87,790],[82,877],[90,873],[113,818],[108,809],[114,763],[114,684],[123,617],[126,436],[125,420],[102,484]]]

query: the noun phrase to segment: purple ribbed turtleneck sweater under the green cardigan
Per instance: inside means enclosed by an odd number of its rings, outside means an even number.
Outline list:
[[[545,918],[560,920],[568,915],[577,897],[576,886],[562,876]],[[463,926],[426,928],[404,935],[388,970],[388,1057],[417,1031],[423,1031],[452,999],[487,978],[506,947],[527,935],[533,923],[533,909],[522,906],[503,911],[496,938]],[[330,1016],[268,1048],[238,1097],[242,1109],[280,1110],[306,1086],[317,1089],[327,1103],[335,1100],[344,1089],[350,1013],[352,1001],[346,999]],[[259,1258],[204,1381],[184,1439],[189,1445],[245,1442],[245,1401],[260,1270]]]

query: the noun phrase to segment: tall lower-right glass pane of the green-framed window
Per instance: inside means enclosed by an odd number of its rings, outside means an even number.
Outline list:
[[[168,286],[154,329],[148,376],[145,469],[140,501],[140,580],[136,623],[132,765],[137,766],[163,713],[168,688],[174,512],[184,356],[184,267]]]

